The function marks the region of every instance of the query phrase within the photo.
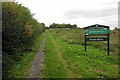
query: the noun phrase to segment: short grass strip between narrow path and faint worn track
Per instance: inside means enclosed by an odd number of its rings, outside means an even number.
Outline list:
[[[59,50],[54,44],[50,34],[47,34],[44,53],[44,67],[42,69],[42,78],[65,78],[66,70],[61,60],[58,58]]]

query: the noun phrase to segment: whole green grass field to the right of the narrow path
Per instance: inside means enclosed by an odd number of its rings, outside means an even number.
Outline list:
[[[84,51],[81,29],[50,29],[44,53],[42,78],[117,78],[118,56],[107,56],[104,42],[88,43]],[[103,49],[103,50],[102,50]]]

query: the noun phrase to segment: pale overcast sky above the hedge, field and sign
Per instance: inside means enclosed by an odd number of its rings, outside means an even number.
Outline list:
[[[52,23],[93,24],[118,27],[119,0],[16,0],[35,13],[34,18],[49,26]]]

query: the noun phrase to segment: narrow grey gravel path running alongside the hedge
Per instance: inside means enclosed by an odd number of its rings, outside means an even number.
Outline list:
[[[32,67],[29,69],[27,73],[27,78],[39,78],[40,76],[40,69],[42,67],[42,57],[44,53],[44,44],[45,44],[46,37],[44,37],[42,45],[40,46],[39,52],[36,54],[34,60],[32,61]]]

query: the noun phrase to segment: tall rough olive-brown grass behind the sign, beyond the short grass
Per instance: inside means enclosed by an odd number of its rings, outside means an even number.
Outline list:
[[[64,42],[68,44],[80,44],[84,45],[84,30],[83,29],[51,29],[50,32],[57,37],[60,37]],[[118,55],[118,32],[119,29],[110,31],[110,52],[112,55]],[[87,41],[87,46],[93,46],[100,50],[107,52],[107,41]]]

